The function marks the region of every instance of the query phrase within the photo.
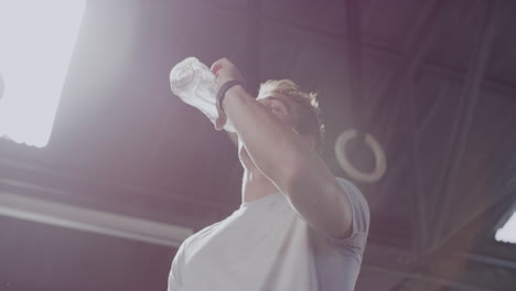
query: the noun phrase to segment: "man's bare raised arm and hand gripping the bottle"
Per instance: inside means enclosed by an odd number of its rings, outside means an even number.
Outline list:
[[[233,79],[244,80],[226,58],[215,62],[212,71],[219,85]],[[222,108],[255,165],[311,227],[335,238],[352,233],[350,200],[312,149],[309,137],[300,136],[279,120],[241,86],[230,87],[225,93]],[[217,129],[225,122],[224,112],[219,114]]]

